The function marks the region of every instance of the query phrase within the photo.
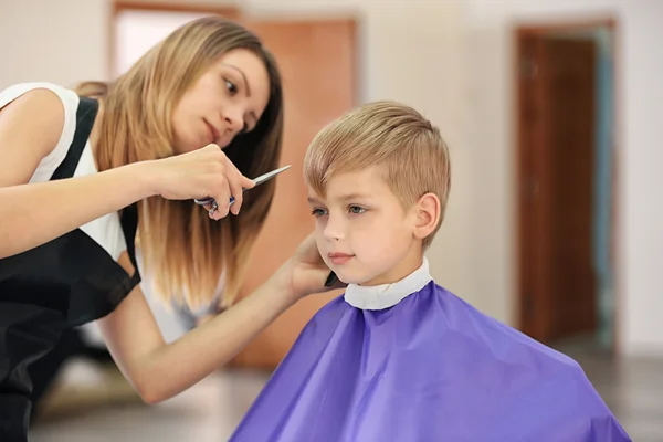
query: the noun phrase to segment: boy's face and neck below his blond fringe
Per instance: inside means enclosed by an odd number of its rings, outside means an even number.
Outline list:
[[[340,281],[387,284],[421,265],[415,210],[403,210],[376,167],[333,177],[324,199],[309,188],[308,202],[320,255]]]

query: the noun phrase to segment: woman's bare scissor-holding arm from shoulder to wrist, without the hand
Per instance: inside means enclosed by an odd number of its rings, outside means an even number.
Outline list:
[[[28,185],[60,139],[64,108],[34,90],[0,112],[0,259],[43,244],[152,192],[144,165]]]

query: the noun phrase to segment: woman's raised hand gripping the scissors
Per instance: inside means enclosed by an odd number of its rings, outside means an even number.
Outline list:
[[[220,220],[242,208],[242,189],[255,183],[244,177],[217,145],[148,161],[154,177],[155,193],[168,200],[203,199],[211,197],[219,206],[210,218]],[[230,207],[230,198],[235,202]],[[208,211],[210,207],[204,207]]]

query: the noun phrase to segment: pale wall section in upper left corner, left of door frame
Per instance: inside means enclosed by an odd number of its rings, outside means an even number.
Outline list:
[[[66,4],[66,6],[65,6]],[[105,78],[108,0],[0,0],[0,87]]]

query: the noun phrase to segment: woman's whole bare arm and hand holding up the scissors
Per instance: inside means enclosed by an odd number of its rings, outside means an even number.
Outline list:
[[[0,109],[0,259],[155,194],[173,200],[213,197],[220,202],[233,196],[236,213],[242,188],[254,186],[215,145],[92,176],[28,183],[54,149],[63,125],[62,103],[48,90],[30,91]],[[227,214],[228,203],[220,203],[213,218]]]

